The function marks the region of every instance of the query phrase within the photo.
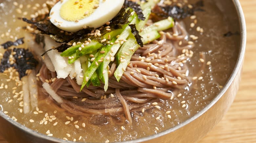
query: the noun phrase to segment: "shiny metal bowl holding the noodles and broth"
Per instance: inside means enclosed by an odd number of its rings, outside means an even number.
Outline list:
[[[221,92],[200,112],[185,122],[160,132],[159,134],[139,138],[123,143],[138,142],[197,142],[202,139],[224,116],[233,102],[239,88],[241,70],[245,55],[246,28],[245,18],[239,0],[215,0],[228,19],[237,20],[240,29],[239,54],[235,68]],[[64,143],[61,139],[49,137],[33,131],[0,112],[0,134],[10,143]]]

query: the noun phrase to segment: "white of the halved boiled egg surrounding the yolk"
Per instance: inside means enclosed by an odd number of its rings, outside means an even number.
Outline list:
[[[78,22],[74,22],[64,20],[60,16],[60,8],[67,1],[68,0],[63,0],[63,2],[59,1],[53,6],[50,11],[50,13],[53,13],[50,15],[50,21],[58,28],[68,32],[76,32],[83,29],[84,25],[94,28],[100,27],[108,21],[111,21],[124,4],[124,0],[100,0],[99,7],[96,8],[91,15]]]

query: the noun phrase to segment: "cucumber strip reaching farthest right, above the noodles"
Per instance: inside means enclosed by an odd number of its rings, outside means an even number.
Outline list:
[[[162,31],[169,28],[172,28],[174,25],[173,18],[169,17],[167,19],[161,20],[159,22],[156,22],[150,26],[147,26],[143,29],[143,31],[140,33],[141,35],[146,34],[148,31]]]

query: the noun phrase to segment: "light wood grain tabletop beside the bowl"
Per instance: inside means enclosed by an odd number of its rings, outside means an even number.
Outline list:
[[[200,143],[256,143],[256,0],[240,2],[247,26],[242,82],[227,114]],[[0,143],[7,142],[0,136]]]

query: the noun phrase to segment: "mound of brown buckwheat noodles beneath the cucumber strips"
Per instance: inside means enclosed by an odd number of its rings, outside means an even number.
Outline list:
[[[174,33],[176,36],[173,35]],[[79,92],[80,86],[70,77],[49,83],[63,99],[63,103],[59,106],[75,115],[102,114],[110,117],[125,115],[127,122],[131,124],[130,112],[152,108],[151,103],[158,102],[158,99],[173,98],[176,91],[187,85],[189,80],[188,69],[182,62],[189,56],[177,55],[181,54],[183,49],[192,49],[194,45],[188,44],[187,32],[179,22],[176,22],[172,29],[161,34],[160,39],[144,45],[135,52],[120,82],[117,82],[113,76],[116,63],[112,63],[107,92],[104,91],[103,83],[100,87],[84,87]],[[56,73],[49,71],[45,64],[42,65],[39,73],[42,83],[46,79],[56,77]],[[39,90],[48,96],[44,88],[40,87]],[[104,96],[106,98],[103,98]],[[82,101],[84,98],[86,100]],[[113,121],[114,119],[111,120]]]

